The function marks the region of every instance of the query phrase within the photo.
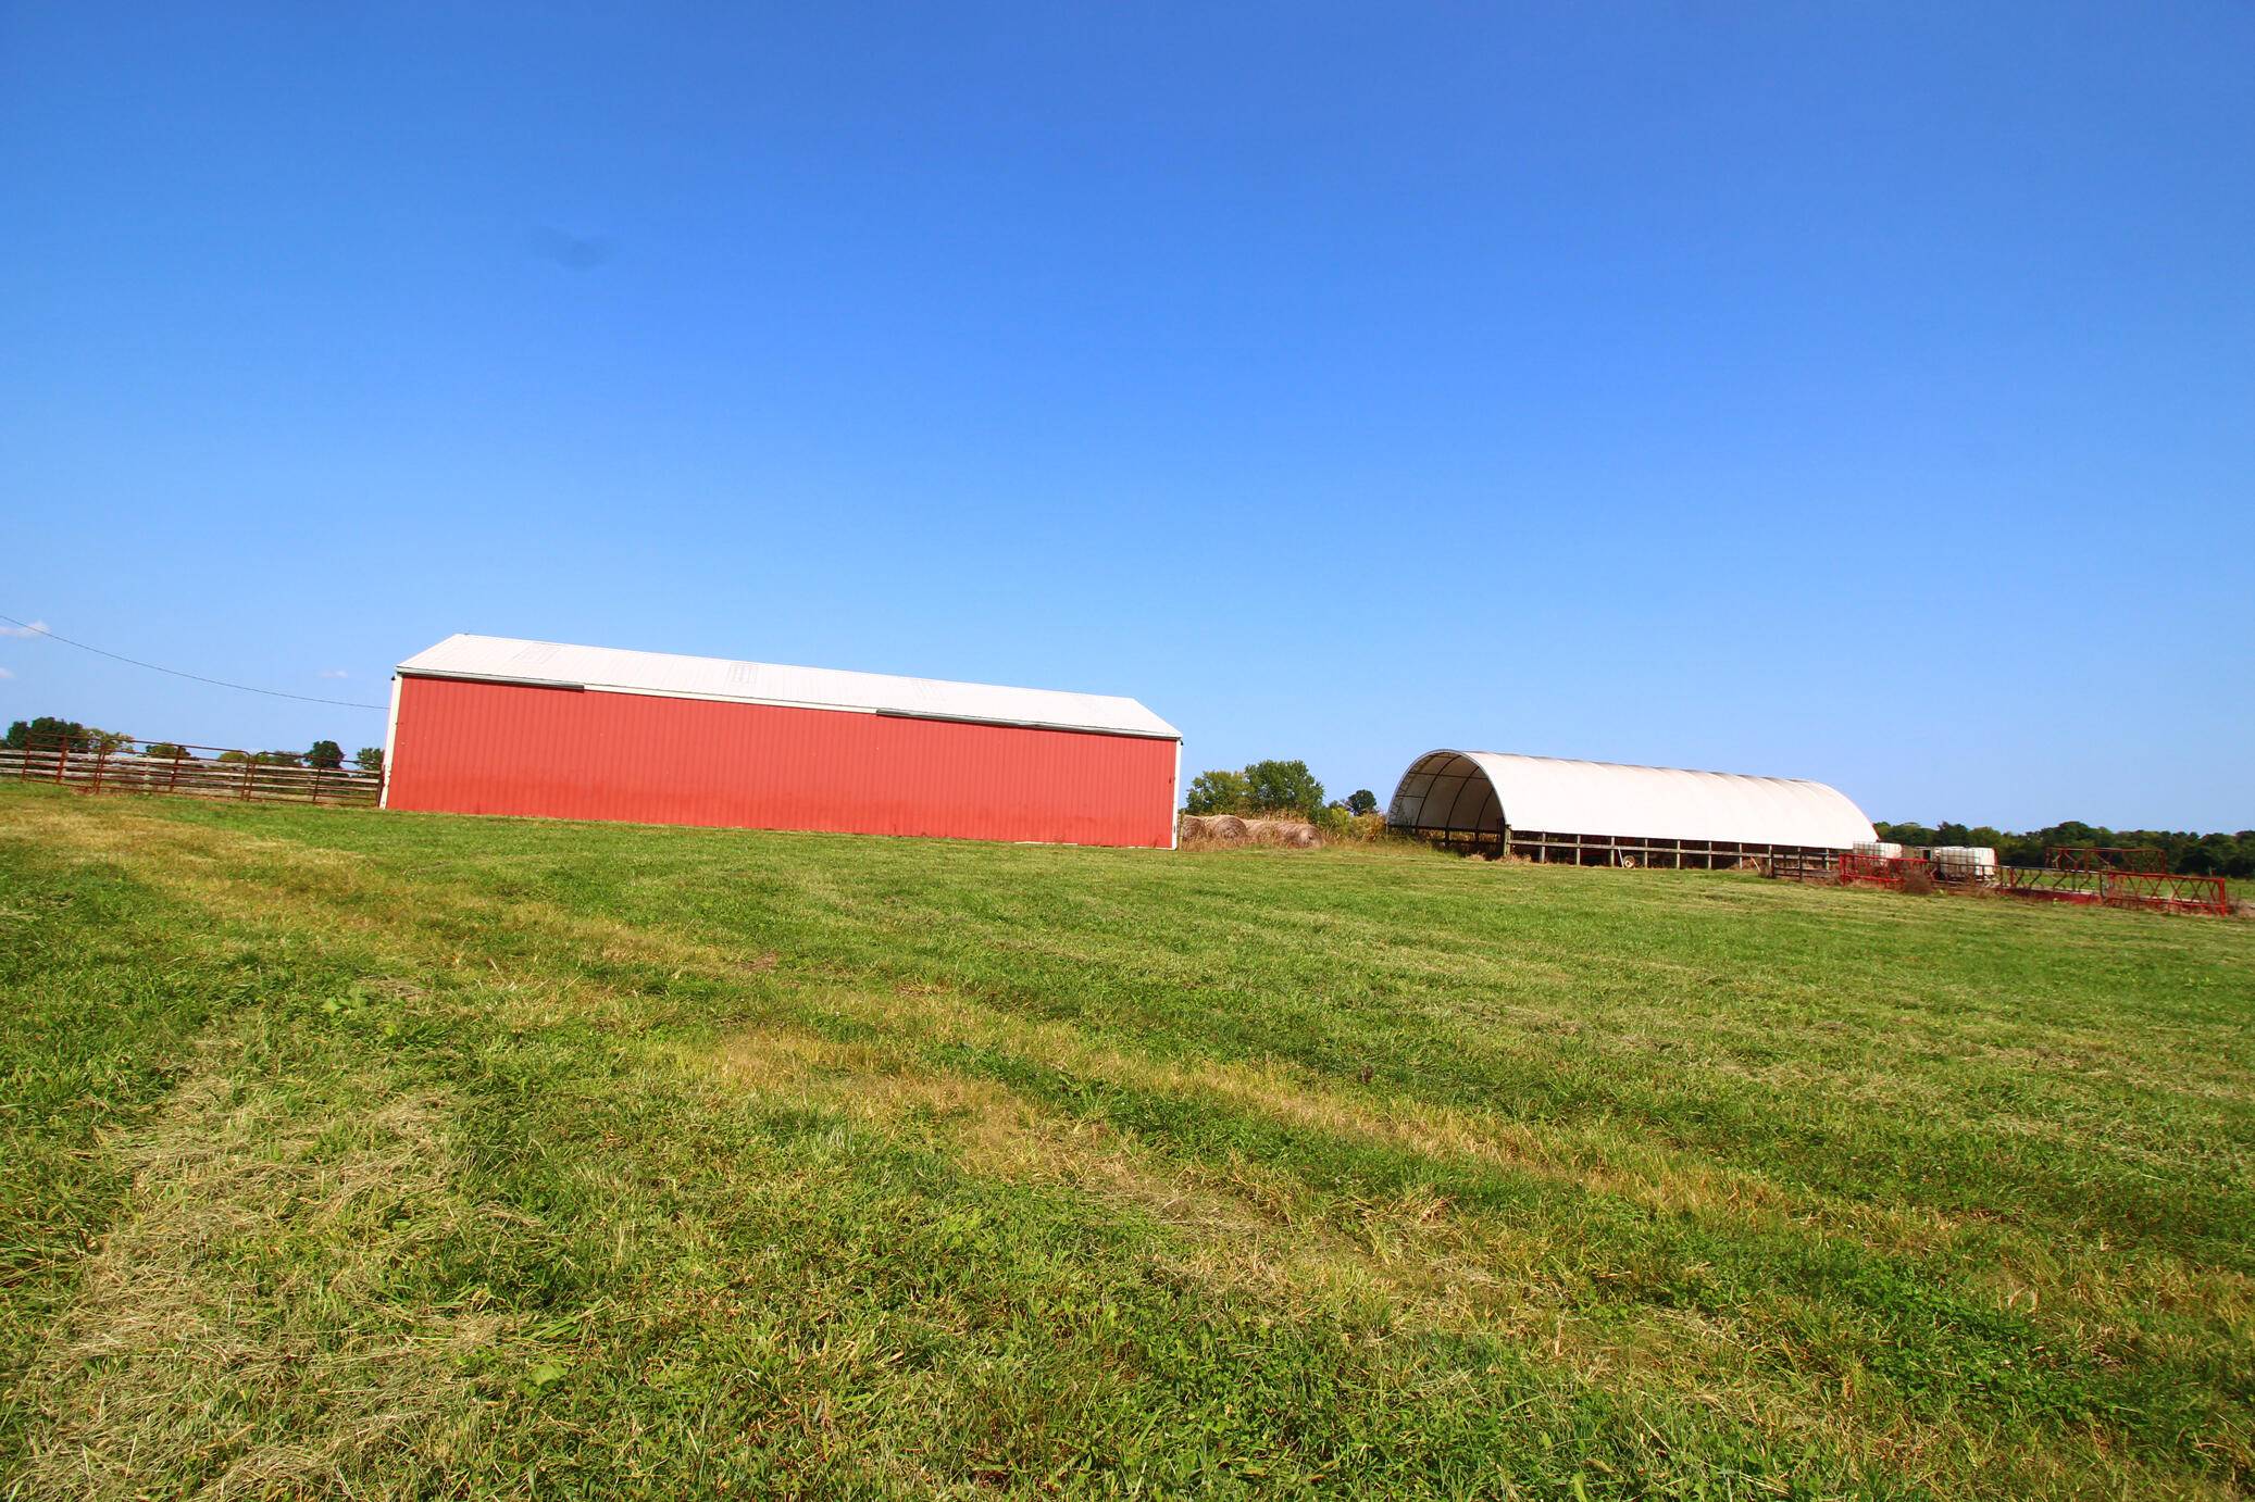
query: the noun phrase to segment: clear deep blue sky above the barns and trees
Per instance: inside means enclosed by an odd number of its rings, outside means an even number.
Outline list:
[[[0,611],[2255,825],[2250,77],[2246,0],[0,5]]]

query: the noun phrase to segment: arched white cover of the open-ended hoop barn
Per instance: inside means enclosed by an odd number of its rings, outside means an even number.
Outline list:
[[[1493,834],[1610,834],[1847,850],[1872,821],[1824,783],[1621,767],[1504,751],[1427,751],[1403,774],[1387,823]]]

